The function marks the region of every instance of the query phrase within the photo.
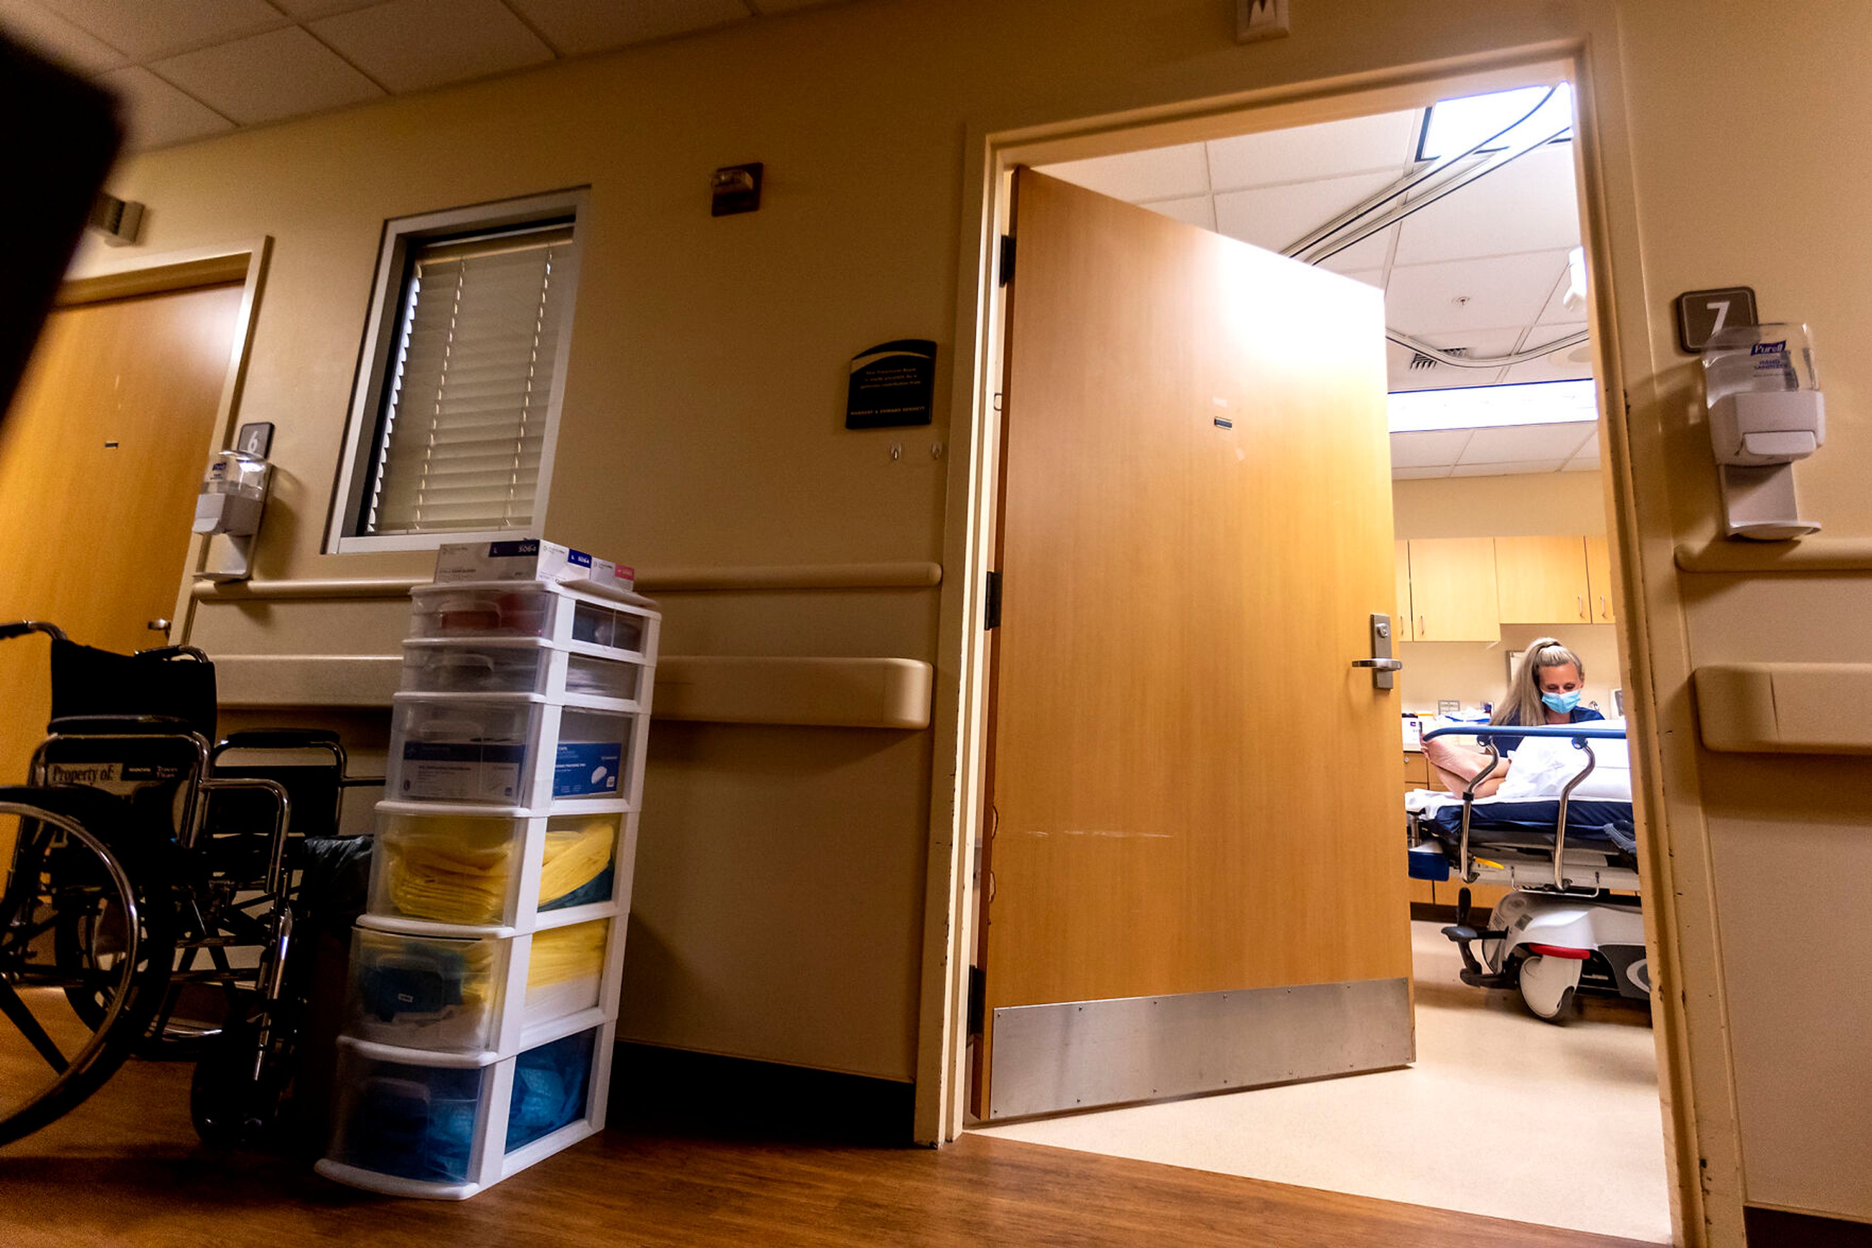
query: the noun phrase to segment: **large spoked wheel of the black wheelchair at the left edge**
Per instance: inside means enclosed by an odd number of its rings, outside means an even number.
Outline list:
[[[0,892],[0,1143],[97,1091],[150,1025],[168,975],[168,921],[137,887],[137,861],[101,834],[122,805],[90,790],[0,790],[19,836]],[[82,821],[80,821],[82,820]],[[97,829],[97,831],[94,831]],[[167,896],[163,898],[167,902]],[[62,915],[101,921],[109,956],[62,964]],[[73,995],[86,1010],[73,1009]]]

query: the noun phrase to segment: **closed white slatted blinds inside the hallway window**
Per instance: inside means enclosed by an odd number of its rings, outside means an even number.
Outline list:
[[[414,251],[363,533],[534,520],[571,226]]]

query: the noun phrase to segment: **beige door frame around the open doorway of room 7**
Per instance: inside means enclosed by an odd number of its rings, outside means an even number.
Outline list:
[[[1733,1063],[1720,995],[1720,943],[1707,825],[1696,784],[1696,724],[1685,696],[1689,653],[1664,486],[1664,430],[1632,423],[1653,380],[1625,359],[1651,357],[1632,148],[1627,133],[1616,13],[1582,13],[1569,39],[1505,47],[1355,79],[1243,90],[1090,118],[1018,127],[970,125],[964,150],[964,232],[957,273],[949,490],[932,728],[923,984],[917,1031],[914,1136],[940,1145],[964,1125],[968,1093],[968,971],[975,943],[975,846],[985,827],[987,655],[983,574],[992,567],[1000,475],[996,391],[1002,374],[998,238],[1007,223],[1015,165],[1114,155],[1264,129],[1419,109],[1449,94],[1522,86],[1541,77],[1574,82],[1574,168],[1589,266],[1589,320],[1601,400],[1606,530],[1619,576],[1617,638],[1627,715],[1642,754],[1638,816],[1645,829],[1645,945],[1664,1117],[1672,1222],[1681,1244],[1741,1242],[1741,1154]],[[1455,88],[1455,90],[1453,90]],[[973,215],[979,206],[979,215]],[[1645,488],[1640,488],[1640,481]],[[1672,784],[1666,790],[1664,776]]]

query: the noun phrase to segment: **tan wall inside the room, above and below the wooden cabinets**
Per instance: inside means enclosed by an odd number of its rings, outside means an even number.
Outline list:
[[[1604,479],[1597,472],[1550,472],[1514,477],[1430,477],[1391,483],[1397,537],[1537,537],[1604,533]],[[1619,644],[1614,625],[1501,625],[1501,642],[1400,642],[1398,677],[1406,711],[1436,711],[1441,698],[1466,707],[1499,702],[1507,653],[1537,636],[1558,636],[1586,664],[1586,700],[1612,715],[1619,687]]]

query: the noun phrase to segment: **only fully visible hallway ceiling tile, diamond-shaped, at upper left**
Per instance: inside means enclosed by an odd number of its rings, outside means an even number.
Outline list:
[[[298,26],[150,65],[241,125],[322,112],[384,92]]]

